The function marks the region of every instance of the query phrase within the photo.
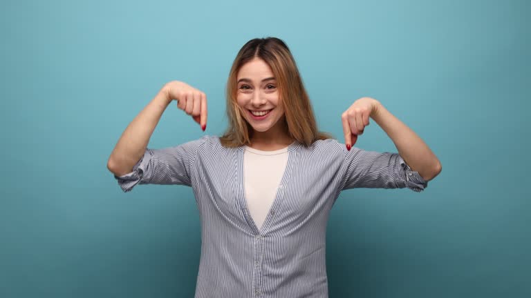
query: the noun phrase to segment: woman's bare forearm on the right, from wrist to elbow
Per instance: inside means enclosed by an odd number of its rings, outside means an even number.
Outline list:
[[[371,113],[371,118],[395,143],[398,154],[412,170],[417,171],[426,181],[438,175],[441,165],[434,152],[431,152],[427,144],[413,130],[386,110],[380,102]]]

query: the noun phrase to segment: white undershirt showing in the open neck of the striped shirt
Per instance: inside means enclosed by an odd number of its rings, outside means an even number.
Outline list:
[[[261,230],[288,164],[288,147],[262,151],[245,146],[243,172],[245,200],[254,224]]]

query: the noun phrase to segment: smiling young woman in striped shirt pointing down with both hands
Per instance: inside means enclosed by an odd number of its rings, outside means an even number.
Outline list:
[[[205,130],[205,93],[167,83],[133,119],[107,167],[122,190],[191,186],[201,217],[196,297],[328,297],[326,224],[341,190],[421,191],[441,170],[428,146],[369,97],[342,114],[345,144],[319,132],[290,50],[277,38],[241,48],[227,81],[229,127],[150,149],[171,101]],[[353,147],[372,118],[398,153]]]

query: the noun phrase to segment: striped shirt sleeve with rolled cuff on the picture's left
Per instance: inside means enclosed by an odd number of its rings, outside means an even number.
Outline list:
[[[144,155],[133,166],[133,170],[114,178],[124,192],[137,184],[180,184],[192,186],[191,169],[197,150],[206,137],[189,141],[179,146],[151,149],[146,148]]]

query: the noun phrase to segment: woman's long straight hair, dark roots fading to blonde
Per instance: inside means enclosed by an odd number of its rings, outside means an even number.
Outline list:
[[[229,126],[220,137],[221,144],[234,148],[251,143],[252,126],[243,117],[245,111],[236,103],[236,79],[240,68],[255,57],[265,61],[277,79],[290,137],[306,146],[318,139],[330,139],[330,135],[317,130],[308,93],[288,46],[281,39],[268,37],[245,43],[232,63],[226,89]]]

